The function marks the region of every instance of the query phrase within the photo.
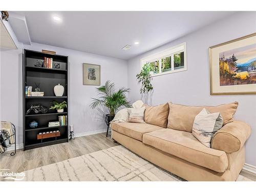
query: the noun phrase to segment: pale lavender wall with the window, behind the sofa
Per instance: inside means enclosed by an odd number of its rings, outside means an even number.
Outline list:
[[[136,74],[140,59],[152,53],[187,43],[187,71],[153,77],[152,104],[172,101],[186,105],[218,105],[239,102],[235,118],[249,123],[252,134],[246,143],[246,163],[256,166],[256,97],[255,95],[211,96],[209,87],[208,48],[256,32],[256,12],[241,12],[199,31],[132,58],[128,61],[128,87],[132,101],[140,99]]]

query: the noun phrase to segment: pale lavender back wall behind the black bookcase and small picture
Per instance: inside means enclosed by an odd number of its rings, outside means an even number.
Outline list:
[[[101,66],[101,84],[110,79],[116,88],[127,87],[127,62],[91,53],[33,43],[21,48],[56,51],[69,56],[69,124],[75,134],[106,129],[103,114],[90,108],[91,97],[97,97],[97,86],[83,86],[82,63]],[[13,122],[17,127],[17,143],[22,140],[22,49],[4,51],[1,55],[1,120]]]

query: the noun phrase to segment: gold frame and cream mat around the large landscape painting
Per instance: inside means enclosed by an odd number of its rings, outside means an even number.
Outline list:
[[[212,50],[214,50],[215,48],[221,48],[222,46],[231,45],[231,44],[240,42],[242,40],[246,40],[248,38],[252,38],[252,40],[253,40],[254,38],[256,38],[256,33],[252,33],[252,34],[249,34],[249,35],[246,35],[246,36],[243,36],[243,37],[239,37],[239,38],[229,40],[229,41],[223,42],[221,44],[209,47],[208,51],[209,51],[210,95],[255,95],[256,94],[256,91],[254,91],[256,89],[246,90],[246,91],[220,91],[220,90],[215,89],[216,87],[218,87],[218,86],[221,87],[221,86],[220,86],[220,84],[217,86],[216,85],[216,80],[214,80],[214,75],[216,75],[216,74],[214,74],[214,71],[216,71],[217,65],[219,67],[219,62],[214,63],[214,61],[212,61],[212,59],[214,57],[212,55]],[[248,44],[248,45],[254,45],[254,44],[252,43],[252,44]],[[239,49],[239,48],[237,48],[237,49]],[[220,67],[218,69],[220,70]],[[220,77],[220,73],[219,73],[219,77]],[[217,77],[215,77],[215,78],[217,78]],[[231,85],[231,86],[233,86],[233,88],[236,88],[236,86],[243,86],[243,85],[239,84],[239,85]],[[226,86],[226,87],[228,87],[228,86]],[[256,84],[252,84],[251,87],[256,88]]]

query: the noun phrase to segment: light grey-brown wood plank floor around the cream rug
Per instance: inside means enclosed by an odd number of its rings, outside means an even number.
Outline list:
[[[10,169],[10,172],[23,172],[32,168],[56,163],[81,155],[104,150],[119,145],[114,143],[105,133],[75,138],[69,143],[50,145],[33,150],[17,150],[15,156],[10,156],[10,151],[0,155],[0,169]],[[241,172],[240,175],[256,181],[256,178],[248,173]]]

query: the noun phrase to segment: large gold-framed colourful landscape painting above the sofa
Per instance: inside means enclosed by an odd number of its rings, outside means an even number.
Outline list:
[[[209,48],[210,94],[256,94],[256,33]]]

